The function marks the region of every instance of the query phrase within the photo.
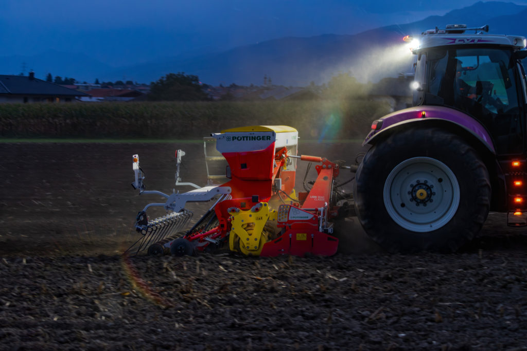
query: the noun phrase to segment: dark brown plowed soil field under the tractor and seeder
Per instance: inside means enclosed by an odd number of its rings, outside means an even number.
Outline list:
[[[130,186],[132,154],[171,193],[177,148],[183,181],[204,185],[200,143],[0,144],[0,349],[527,349],[527,234],[501,214],[450,255],[387,254],[353,217],[333,257],[121,255],[160,202]]]

